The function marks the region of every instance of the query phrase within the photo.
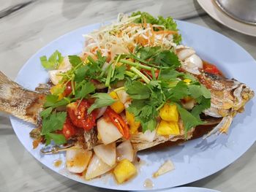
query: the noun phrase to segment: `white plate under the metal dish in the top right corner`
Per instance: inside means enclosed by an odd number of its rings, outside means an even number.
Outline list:
[[[242,34],[256,37],[256,26],[242,23],[238,20],[230,18],[230,16],[225,14],[225,12],[222,12],[214,0],[197,0],[197,2],[211,16],[211,18],[214,18],[219,23],[222,23],[222,25],[232,28],[233,30]]]

